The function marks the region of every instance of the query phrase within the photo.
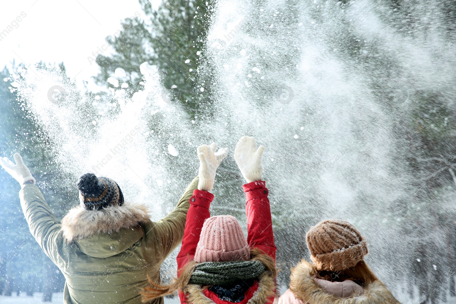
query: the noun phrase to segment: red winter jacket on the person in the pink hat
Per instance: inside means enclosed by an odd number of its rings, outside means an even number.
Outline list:
[[[275,251],[277,248],[274,244],[274,235],[272,232],[271,209],[268,200],[268,189],[264,181],[253,181],[243,186],[247,204],[245,212],[247,214],[247,243],[250,248],[258,248],[268,254],[275,261]],[[195,256],[197,244],[199,241],[202,225],[210,217],[209,206],[214,196],[202,190],[193,191],[190,198],[190,209],[187,212],[187,222],[185,223],[184,238],[182,240],[181,251],[177,255],[177,269],[182,269]],[[177,273],[180,275],[180,272]],[[245,293],[245,298],[241,302],[233,304],[246,304],[252,298],[258,289],[259,282],[255,281],[249,290]],[[214,301],[216,304],[232,304],[229,301],[223,301],[218,295],[206,289],[204,295]],[[186,297],[179,292],[181,303],[185,304]],[[274,298],[270,298],[268,304],[272,304]]]

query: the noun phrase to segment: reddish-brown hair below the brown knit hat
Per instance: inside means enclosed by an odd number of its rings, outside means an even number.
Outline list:
[[[316,273],[318,278],[325,279],[331,282],[343,282],[344,280],[352,280],[364,288],[370,283],[378,280],[373,274],[369,266],[361,260],[353,267],[346,268],[341,271],[320,271]]]

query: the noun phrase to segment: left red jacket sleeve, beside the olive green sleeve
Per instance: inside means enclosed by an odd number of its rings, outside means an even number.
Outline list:
[[[195,257],[202,225],[211,216],[209,206],[213,199],[214,196],[210,192],[202,190],[193,191],[193,196],[190,198],[190,209],[187,213],[181,251],[177,254],[176,258],[178,277],[181,275],[180,270]],[[181,291],[179,291],[179,298],[181,299],[181,303],[187,303],[186,296]]]

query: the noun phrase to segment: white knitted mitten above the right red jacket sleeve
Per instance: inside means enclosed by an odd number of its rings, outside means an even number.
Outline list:
[[[236,144],[234,159],[248,183],[261,180],[261,174],[263,173],[261,157],[263,152],[264,146],[260,145],[257,150],[255,139],[250,136],[241,137]]]

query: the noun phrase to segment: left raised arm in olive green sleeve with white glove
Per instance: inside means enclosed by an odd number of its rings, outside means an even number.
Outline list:
[[[6,157],[0,158],[0,164],[21,184],[22,189],[19,196],[30,232],[46,255],[56,263],[57,248],[63,243],[63,238],[60,235],[60,221],[52,213],[40,189],[34,185],[35,178],[24,165],[21,155],[16,153],[14,160],[16,160],[16,164]]]

